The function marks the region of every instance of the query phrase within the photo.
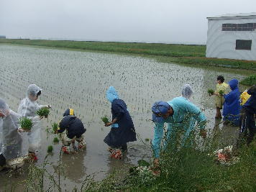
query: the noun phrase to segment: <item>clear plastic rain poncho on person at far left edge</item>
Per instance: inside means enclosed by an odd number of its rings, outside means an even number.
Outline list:
[[[0,117],[0,153],[6,160],[22,156],[22,137],[19,129],[19,114],[9,109],[3,99],[0,99],[0,110],[5,116]]]

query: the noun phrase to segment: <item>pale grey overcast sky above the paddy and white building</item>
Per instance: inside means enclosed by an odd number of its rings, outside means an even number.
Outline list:
[[[256,0],[0,0],[0,35],[206,42],[207,19],[256,12]]]

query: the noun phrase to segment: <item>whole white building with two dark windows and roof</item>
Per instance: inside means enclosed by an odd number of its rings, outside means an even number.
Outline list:
[[[256,60],[256,13],[207,19],[207,58]]]

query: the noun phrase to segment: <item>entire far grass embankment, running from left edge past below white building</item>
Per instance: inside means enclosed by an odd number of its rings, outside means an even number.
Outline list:
[[[206,58],[206,45],[9,39],[0,40],[0,43],[150,55],[166,63],[245,69],[250,70],[251,74],[256,70],[256,61]]]

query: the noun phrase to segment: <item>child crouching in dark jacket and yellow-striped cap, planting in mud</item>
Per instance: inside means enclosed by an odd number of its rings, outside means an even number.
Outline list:
[[[80,150],[86,148],[86,141],[84,139],[85,132],[86,128],[84,128],[83,122],[75,116],[74,110],[67,109],[55,133],[60,134],[60,140],[63,142],[63,152],[70,154],[70,152],[73,152],[74,148],[76,148],[76,141],[78,142],[78,148]],[[71,144],[72,147],[70,147]]]

